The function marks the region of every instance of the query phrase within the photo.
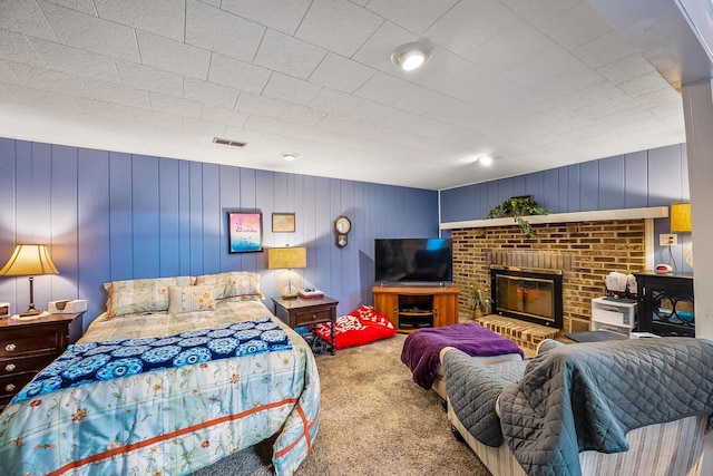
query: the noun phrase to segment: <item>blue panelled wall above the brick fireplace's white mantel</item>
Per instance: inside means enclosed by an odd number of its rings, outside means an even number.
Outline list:
[[[490,207],[517,195],[533,195],[554,213],[687,202],[686,147],[678,144],[442,191],[441,221],[482,220]],[[668,247],[658,246],[658,235],[670,233],[670,226],[668,218],[654,220],[656,263],[670,262]],[[693,272],[683,261],[690,243],[691,233],[678,233],[678,245],[672,246],[678,271]]]

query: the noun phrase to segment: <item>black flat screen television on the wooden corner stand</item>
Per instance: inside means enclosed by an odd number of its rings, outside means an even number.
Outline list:
[[[451,239],[378,239],[374,281],[443,284],[453,280]]]

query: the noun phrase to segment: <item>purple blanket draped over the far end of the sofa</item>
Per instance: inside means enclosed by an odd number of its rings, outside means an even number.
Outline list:
[[[406,338],[401,350],[401,361],[411,369],[414,382],[427,390],[431,388],[440,365],[440,351],[449,346],[469,356],[519,353],[525,357],[517,343],[475,322],[419,329]]]

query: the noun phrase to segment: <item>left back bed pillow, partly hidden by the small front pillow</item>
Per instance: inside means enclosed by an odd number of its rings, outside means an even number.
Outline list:
[[[154,278],[145,280],[111,281],[104,284],[109,297],[109,318],[168,311],[168,286],[191,285],[192,276]]]

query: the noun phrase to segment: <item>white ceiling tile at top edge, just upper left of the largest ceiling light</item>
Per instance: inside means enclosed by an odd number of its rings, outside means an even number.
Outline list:
[[[315,0],[295,37],[351,58],[382,22],[348,0]]]

